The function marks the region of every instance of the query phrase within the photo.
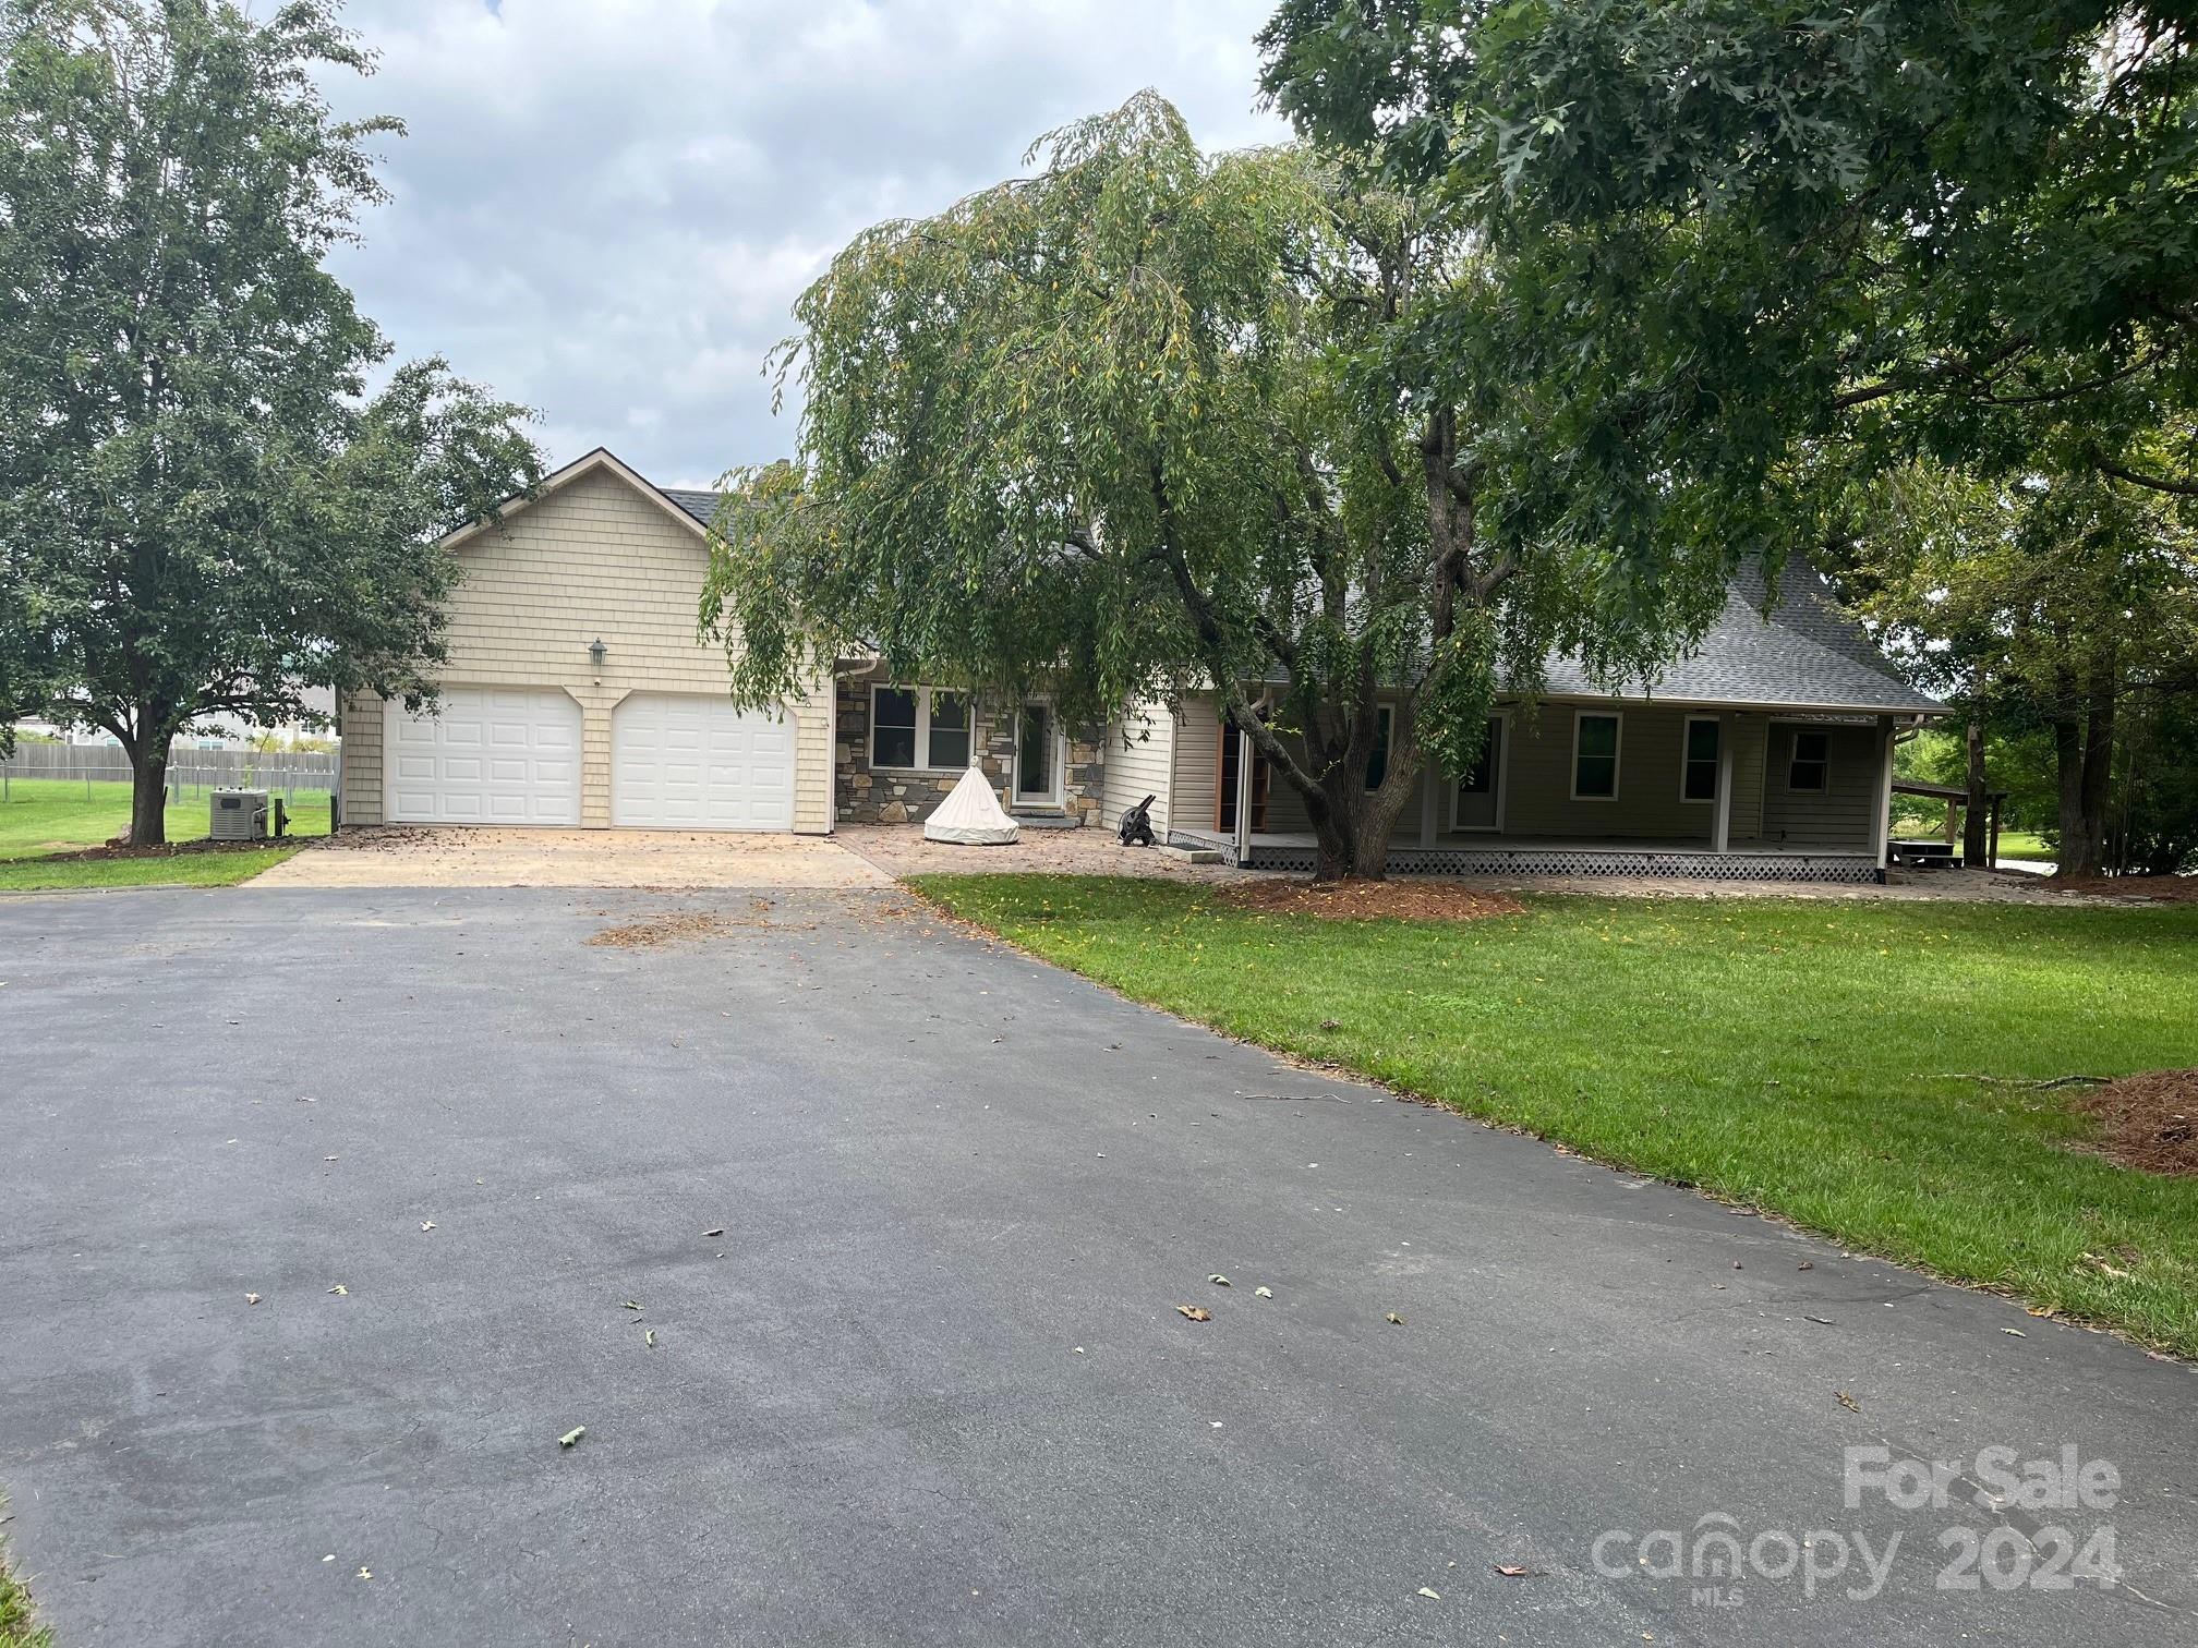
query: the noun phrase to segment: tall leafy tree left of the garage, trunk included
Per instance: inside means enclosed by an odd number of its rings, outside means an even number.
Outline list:
[[[323,257],[398,127],[317,75],[371,57],[325,0],[9,0],[0,40],[0,686],[141,776],[198,716],[422,697],[435,538],[541,461],[442,360],[365,396],[389,345]]]

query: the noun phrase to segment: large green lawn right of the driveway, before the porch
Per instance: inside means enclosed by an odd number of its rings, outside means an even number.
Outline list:
[[[2198,1356],[2198,1180],[2068,1149],[2071,1090],[1972,1079],[2198,1066],[2198,907],[1536,897],[1398,923],[914,886],[1231,1035]]]

